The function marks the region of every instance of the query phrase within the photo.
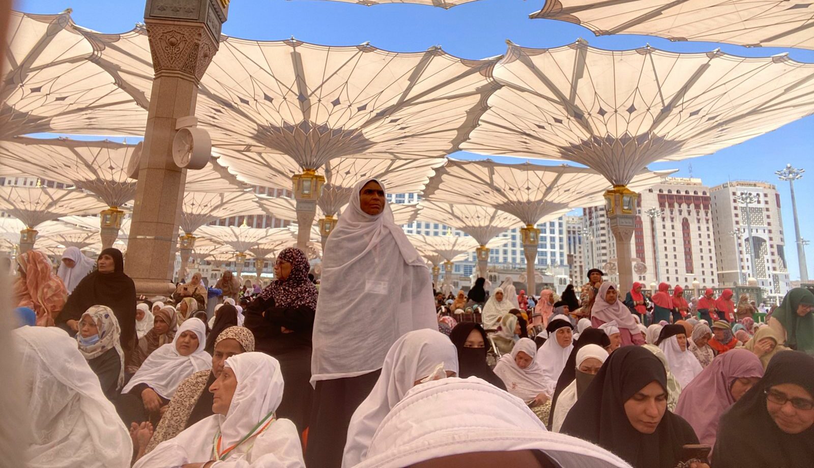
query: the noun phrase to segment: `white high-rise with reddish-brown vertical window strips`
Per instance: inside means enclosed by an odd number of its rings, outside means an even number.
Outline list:
[[[648,216],[651,208],[661,210],[661,215]],[[646,272],[634,272],[634,278],[647,285],[667,282],[685,289],[694,281],[701,287],[716,286],[712,220],[710,189],[701,179],[669,177],[642,191],[632,251]]]

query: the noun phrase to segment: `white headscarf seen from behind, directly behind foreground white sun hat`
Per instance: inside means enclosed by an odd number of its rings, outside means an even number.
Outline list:
[[[410,331],[393,343],[379,380],[351,418],[342,457],[344,468],[357,466],[365,459],[379,423],[416,380],[427,377],[440,364],[457,374],[457,349],[449,337],[436,330]]]

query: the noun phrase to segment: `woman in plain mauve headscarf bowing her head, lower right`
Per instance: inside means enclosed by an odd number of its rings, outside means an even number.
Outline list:
[[[722,354],[681,391],[676,414],[693,426],[702,444],[715,445],[721,414],[763,374],[758,357],[746,349]]]

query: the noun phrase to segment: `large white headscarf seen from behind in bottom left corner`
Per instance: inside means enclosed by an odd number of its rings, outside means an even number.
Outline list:
[[[56,327],[23,326],[11,334],[11,359],[27,388],[20,430],[28,466],[129,466],[133,442],[77,342]]]

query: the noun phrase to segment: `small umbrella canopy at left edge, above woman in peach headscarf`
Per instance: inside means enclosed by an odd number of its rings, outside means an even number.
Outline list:
[[[23,221],[29,228],[58,217],[95,214],[105,208],[106,204],[81,190],[0,187],[0,210]]]

